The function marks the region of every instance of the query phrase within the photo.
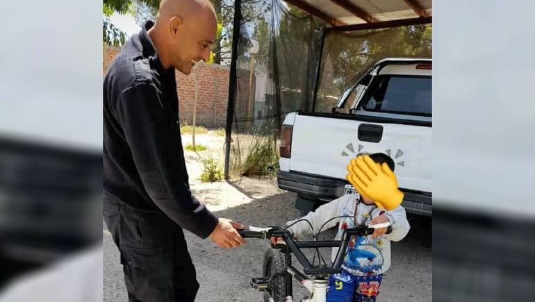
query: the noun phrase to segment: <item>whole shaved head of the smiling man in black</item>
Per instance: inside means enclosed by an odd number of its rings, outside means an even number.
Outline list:
[[[149,35],[165,68],[190,74],[195,62],[210,58],[216,31],[217,17],[208,0],[162,0]]]

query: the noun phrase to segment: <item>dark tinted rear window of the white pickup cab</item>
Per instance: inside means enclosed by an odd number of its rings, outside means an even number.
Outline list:
[[[431,117],[430,76],[379,76],[368,91],[364,110]]]

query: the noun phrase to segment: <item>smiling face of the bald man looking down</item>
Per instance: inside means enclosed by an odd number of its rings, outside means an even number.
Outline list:
[[[183,26],[173,41],[173,66],[183,74],[190,74],[195,62],[208,61],[216,31],[217,22],[209,10],[184,18]]]

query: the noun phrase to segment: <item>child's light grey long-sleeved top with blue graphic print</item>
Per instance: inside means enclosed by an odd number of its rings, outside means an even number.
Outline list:
[[[334,240],[340,240],[344,228],[352,228],[359,224],[370,224],[374,217],[385,215],[392,226],[392,233],[381,237],[373,238],[371,236],[358,237],[353,236],[349,240],[347,254],[343,261],[343,268],[351,274],[357,276],[384,274],[390,267],[390,241],[400,241],[409,233],[409,221],[406,219],[405,209],[398,206],[394,210],[386,211],[377,208],[375,205],[365,205],[358,203],[359,194],[347,194],[334,201],[326,203],[315,212],[309,212],[302,217],[311,222],[315,232],[329,219],[337,216],[350,216],[333,219],[325,226],[323,230],[332,228],[338,224],[338,233]],[[357,205],[358,203],[358,205]],[[356,215],[355,215],[356,208]],[[286,225],[293,224],[298,219],[288,221]],[[311,234],[312,230],[306,221],[299,221],[297,224],[288,228],[290,232],[299,237],[304,234]],[[334,262],[338,253],[338,248],[334,248],[331,253],[331,261]]]

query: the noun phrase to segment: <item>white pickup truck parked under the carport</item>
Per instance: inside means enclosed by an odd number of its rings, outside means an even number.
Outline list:
[[[359,153],[395,161],[407,212],[431,216],[430,59],[385,58],[358,75],[332,112],[290,112],[281,128],[279,187],[303,213],[353,192],[346,166]]]

